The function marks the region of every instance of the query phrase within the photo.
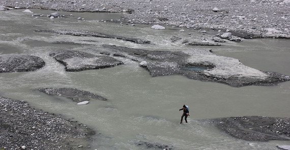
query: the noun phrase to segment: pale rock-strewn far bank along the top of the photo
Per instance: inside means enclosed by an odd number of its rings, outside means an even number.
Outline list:
[[[6,0],[12,8],[41,8],[76,12],[129,12],[119,22],[164,24],[192,29],[216,29],[245,38],[290,38],[288,0],[142,1],[142,0]]]

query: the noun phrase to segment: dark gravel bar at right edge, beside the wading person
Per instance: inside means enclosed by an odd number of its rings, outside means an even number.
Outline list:
[[[211,121],[227,134],[244,140],[290,140],[290,118],[245,116]]]

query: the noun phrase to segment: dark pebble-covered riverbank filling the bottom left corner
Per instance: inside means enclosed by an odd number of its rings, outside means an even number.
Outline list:
[[[89,149],[93,134],[86,126],[0,96],[0,149]]]

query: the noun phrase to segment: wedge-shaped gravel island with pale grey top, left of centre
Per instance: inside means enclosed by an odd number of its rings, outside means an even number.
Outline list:
[[[94,55],[80,51],[57,51],[49,54],[66,66],[66,71],[82,71],[108,68],[123,64],[122,61],[106,55]]]

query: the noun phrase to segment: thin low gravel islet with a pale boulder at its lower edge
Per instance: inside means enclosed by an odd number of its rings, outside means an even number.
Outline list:
[[[74,88],[46,88],[46,89],[39,89],[40,92],[43,92],[47,95],[56,95],[56,96],[63,96],[72,99],[75,102],[83,102],[81,104],[87,103],[84,101],[89,101],[90,99],[95,100],[107,100],[106,98],[99,96],[97,94],[83,91]]]

